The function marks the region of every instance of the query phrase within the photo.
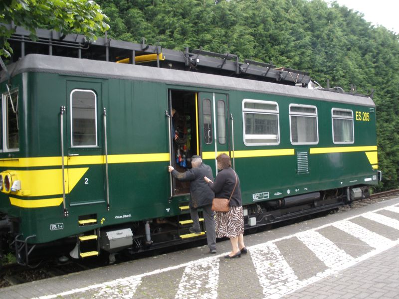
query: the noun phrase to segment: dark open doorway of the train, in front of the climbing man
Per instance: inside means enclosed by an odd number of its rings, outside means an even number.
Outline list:
[[[200,154],[197,93],[172,90],[170,95],[172,109],[176,111],[172,119],[176,135],[176,138],[172,138],[172,165],[177,171],[185,172],[192,168],[191,157]],[[190,182],[173,178],[173,194],[186,193],[190,193]]]

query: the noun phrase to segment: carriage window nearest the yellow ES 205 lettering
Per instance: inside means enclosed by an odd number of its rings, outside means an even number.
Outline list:
[[[335,144],[354,143],[353,111],[332,109],[333,142]]]

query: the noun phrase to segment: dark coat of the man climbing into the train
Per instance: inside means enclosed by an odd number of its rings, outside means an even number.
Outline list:
[[[209,189],[207,183],[203,179],[204,176],[207,176],[208,178],[213,180],[212,169],[210,169],[208,165],[201,163],[200,166],[193,167],[186,172],[173,170],[172,175],[180,181],[191,181],[191,207],[196,208],[212,204],[212,199],[214,197],[213,191]]]

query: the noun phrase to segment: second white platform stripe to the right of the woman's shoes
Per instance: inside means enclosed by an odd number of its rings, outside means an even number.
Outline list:
[[[296,237],[328,268],[340,268],[354,260],[353,257],[316,231],[301,232]]]

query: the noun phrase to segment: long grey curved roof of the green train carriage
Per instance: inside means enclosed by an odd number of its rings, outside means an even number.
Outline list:
[[[233,78],[183,70],[121,64],[115,62],[78,59],[41,54],[29,54],[8,66],[14,76],[24,72],[45,72],[93,78],[115,78],[147,82],[163,82],[171,85],[201,87],[217,90],[250,91],[327,102],[375,106],[369,97],[341,94],[322,90],[301,88],[270,82]],[[5,80],[4,72],[0,81]]]

